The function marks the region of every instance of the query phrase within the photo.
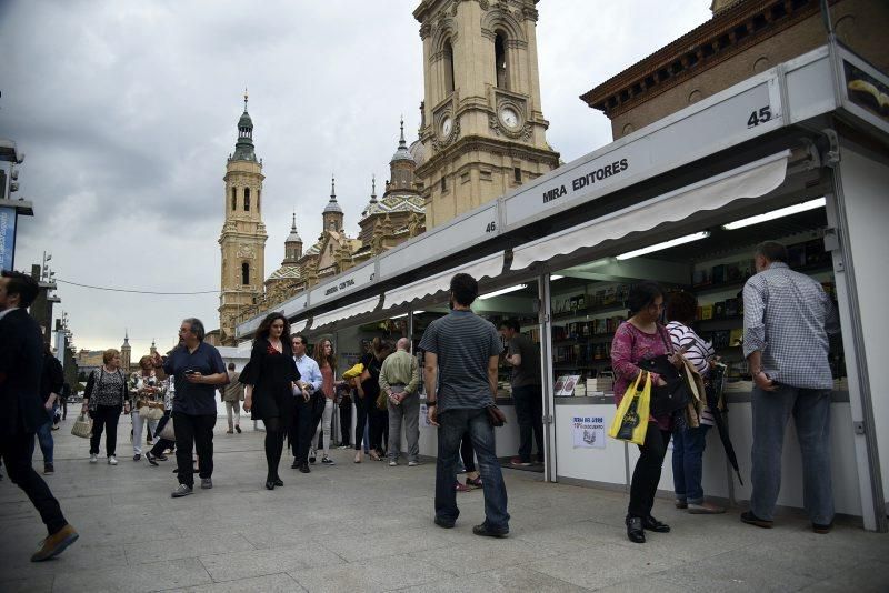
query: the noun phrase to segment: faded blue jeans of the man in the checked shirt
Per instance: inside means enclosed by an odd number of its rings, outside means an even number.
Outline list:
[[[833,520],[830,480],[830,390],[780,385],[777,391],[753,389],[753,446],[750,511],[771,521],[781,490],[781,451],[790,415],[802,453],[803,505],[812,523]]]

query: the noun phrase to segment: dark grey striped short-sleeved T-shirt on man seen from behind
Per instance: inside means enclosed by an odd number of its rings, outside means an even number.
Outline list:
[[[502,346],[493,323],[472,311],[451,311],[426,329],[420,350],[438,355],[438,411],[493,403],[488,360]]]

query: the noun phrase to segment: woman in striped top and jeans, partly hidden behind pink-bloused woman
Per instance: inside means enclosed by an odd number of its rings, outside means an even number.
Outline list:
[[[710,360],[716,355],[712,344],[695,333],[691,324],[698,310],[693,294],[679,292],[670,296],[667,305],[667,331],[673,350],[679,351],[705,380],[710,373]],[[703,500],[701,468],[707,431],[713,425],[713,414],[705,406],[699,426],[679,426],[673,431],[673,488],[677,509],[688,509],[691,514],[725,513],[726,509]]]

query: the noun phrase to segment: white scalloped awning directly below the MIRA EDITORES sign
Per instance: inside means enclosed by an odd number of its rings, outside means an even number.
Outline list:
[[[786,150],[726,171],[679,190],[618,210],[512,250],[511,270],[567,255],[632,232],[649,231],[665,222],[678,222],[703,210],[717,210],[745,198],[759,198],[778,188],[787,174]]]

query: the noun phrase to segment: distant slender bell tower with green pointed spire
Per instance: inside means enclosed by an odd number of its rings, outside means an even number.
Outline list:
[[[226,222],[219,235],[222,284],[219,296],[220,343],[234,344],[238,315],[261,296],[266,279],[266,224],[262,222],[262,161],[253,148],[253,121],[247,112],[238,120],[234,153],[226,163],[223,197]]]

